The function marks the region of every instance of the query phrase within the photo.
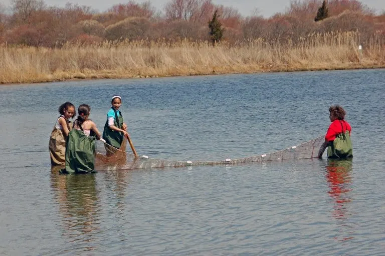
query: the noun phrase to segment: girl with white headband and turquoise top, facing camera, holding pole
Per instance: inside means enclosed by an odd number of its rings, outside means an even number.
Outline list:
[[[121,104],[122,97],[118,95],[112,97],[112,106],[107,113],[107,121],[103,130],[103,139],[115,148],[120,148],[124,137],[128,135],[127,125],[124,123],[122,112],[119,110]]]

